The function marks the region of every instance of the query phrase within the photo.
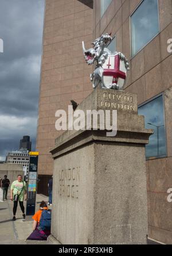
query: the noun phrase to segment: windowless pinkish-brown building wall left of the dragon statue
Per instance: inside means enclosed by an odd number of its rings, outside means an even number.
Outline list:
[[[80,103],[92,91],[81,42],[91,46],[93,1],[46,0],[38,106],[38,192],[47,194],[53,174],[50,149],[61,131],[55,129],[55,113],[68,109],[71,100]],[[43,190],[42,190],[43,189]]]

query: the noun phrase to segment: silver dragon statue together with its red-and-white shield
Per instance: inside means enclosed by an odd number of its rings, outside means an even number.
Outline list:
[[[106,33],[93,41],[93,48],[85,49],[83,42],[86,62],[88,65],[96,63],[95,71],[90,75],[93,89],[97,86],[104,89],[123,89],[127,70],[130,70],[129,63],[121,52],[111,52],[107,48],[111,41],[111,34]]]

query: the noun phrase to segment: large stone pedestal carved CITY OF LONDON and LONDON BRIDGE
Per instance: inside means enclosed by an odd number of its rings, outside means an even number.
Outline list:
[[[52,236],[61,244],[146,244],[144,129],[135,94],[97,89],[77,109],[118,110],[118,132],[66,131],[56,139]],[[54,242],[55,241],[55,242]]]

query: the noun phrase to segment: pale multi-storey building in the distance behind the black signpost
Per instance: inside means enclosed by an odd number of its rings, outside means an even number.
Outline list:
[[[29,173],[29,151],[27,149],[11,151],[6,156],[6,163],[13,163],[14,165],[21,165],[23,167],[26,181]]]

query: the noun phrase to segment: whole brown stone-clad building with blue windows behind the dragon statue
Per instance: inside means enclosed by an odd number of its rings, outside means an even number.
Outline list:
[[[171,0],[47,0],[37,129],[38,173],[52,174],[49,150],[61,134],[54,114],[92,91],[81,41],[89,48],[111,33],[108,47],[130,62],[124,90],[138,94],[139,114],[154,129],[146,146],[148,236],[162,243],[172,243],[171,13]]]

